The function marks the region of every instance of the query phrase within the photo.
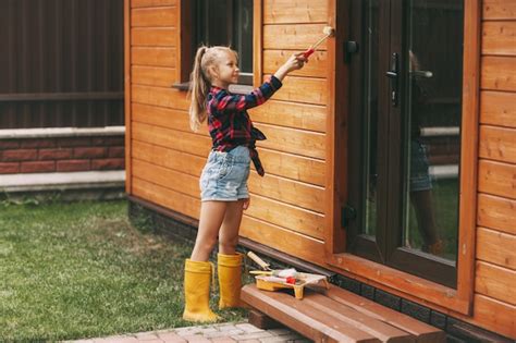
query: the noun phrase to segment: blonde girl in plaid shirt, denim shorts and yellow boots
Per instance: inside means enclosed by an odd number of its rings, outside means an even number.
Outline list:
[[[263,85],[246,96],[228,88],[238,81],[237,54],[226,47],[200,47],[192,72],[191,126],[194,131],[208,119],[213,147],[200,176],[200,218],[192,257],[185,261],[185,310],[191,321],[214,321],[209,308],[212,265],[208,261],[219,237],[219,308],[237,307],[242,287],[242,255],[236,254],[243,210],[249,206],[247,179],[253,160],[261,176],[263,169],[255,142],[265,135],[253,126],[247,109],[269,99],[282,79],[303,68],[303,52],[293,54]]]

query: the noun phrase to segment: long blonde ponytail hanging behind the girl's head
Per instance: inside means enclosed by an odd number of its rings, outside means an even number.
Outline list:
[[[194,60],[194,70],[191,74],[189,96],[192,101],[189,105],[189,126],[193,131],[197,131],[200,124],[206,120],[206,98],[210,90],[211,83],[202,71],[202,57],[207,47],[201,46],[197,49]]]

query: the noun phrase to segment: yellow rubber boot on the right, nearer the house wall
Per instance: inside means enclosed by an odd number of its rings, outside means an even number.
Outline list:
[[[242,307],[242,262],[243,255],[218,254],[220,301],[219,308]]]

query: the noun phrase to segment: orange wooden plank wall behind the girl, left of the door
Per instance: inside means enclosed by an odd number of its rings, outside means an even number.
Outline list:
[[[322,34],[327,1],[263,1],[262,72],[273,73],[293,52]],[[211,140],[188,127],[186,94],[176,82],[179,0],[131,1],[132,194],[198,218],[198,177]],[[287,10],[287,8],[290,10]],[[324,46],[321,47],[324,50]],[[266,176],[253,170],[251,206],[242,236],[322,262],[325,51],[284,81],[283,88],[250,115],[268,139],[259,144]],[[295,86],[294,86],[295,85]]]

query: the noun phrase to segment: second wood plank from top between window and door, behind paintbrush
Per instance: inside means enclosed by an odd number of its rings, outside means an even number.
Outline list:
[[[294,49],[305,51],[324,36],[324,24],[263,25],[263,49]],[[318,50],[327,50],[323,41]]]

